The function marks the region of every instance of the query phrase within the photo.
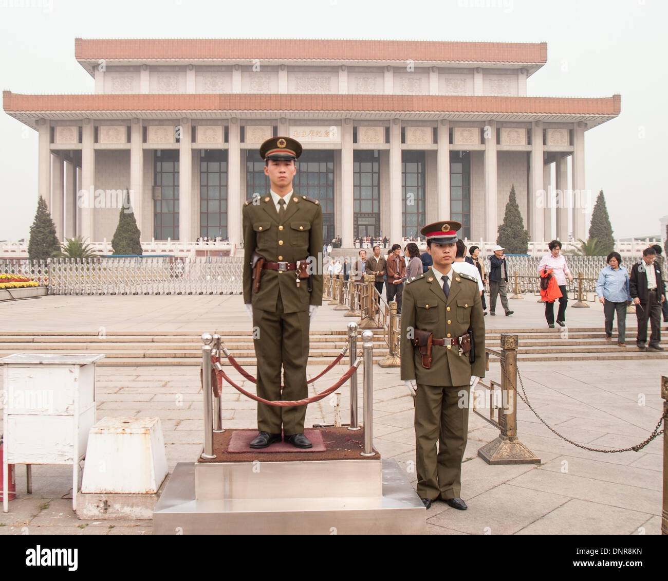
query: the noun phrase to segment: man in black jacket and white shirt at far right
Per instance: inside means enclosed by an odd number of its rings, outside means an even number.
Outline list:
[[[656,251],[652,247],[643,251],[643,259],[631,268],[629,294],[635,304],[635,316],[638,320],[638,336],[635,344],[645,351],[647,341],[647,319],[649,318],[652,334],[647,349],[663,351],[661,343],[661,303],[664,301],[665,283],[661,279],[661,268],[655,261]]]

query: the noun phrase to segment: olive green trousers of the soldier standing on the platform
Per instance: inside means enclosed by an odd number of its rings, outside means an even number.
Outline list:
[[[308,396],[309,312],[284,313],[281,296],[276,312],[253,309],[253,342],[257,357],[257,394],[267,400],[299,400]],[[283,366],[283,393],[281,393]],[[277,407],[258,402],[259,431],[284,435],[304,433],[306,406]]]

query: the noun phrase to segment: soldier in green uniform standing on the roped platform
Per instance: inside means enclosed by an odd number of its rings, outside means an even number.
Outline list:
[[[267,400],[307,397],[309,323],[323,302],[323,275],[318,269],[323,211],[317,200],[293,191],[295,160],[301,150],[301,144],[289,137],[265,141],[260,155],[271,192],[254,195],[243,207],[244,304],[253,320],[257,394]],[[310,448],[304,435],[305,416],[305,405],[258,403],[259,435],[251,448],[280,442],[281,427],[284,441]]]

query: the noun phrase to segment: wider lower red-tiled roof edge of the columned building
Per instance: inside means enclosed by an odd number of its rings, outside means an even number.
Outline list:
[[[349,111],[471,112],[489,114],[619,115],[621,96],[603,98],[294,95],[129,94],[23,95],[3,92],[7,113],[96,111]]]

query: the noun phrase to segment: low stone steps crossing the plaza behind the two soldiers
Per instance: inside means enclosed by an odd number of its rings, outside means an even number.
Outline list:
[[[668,338],[668,326],[662,325]],[[488,330],[486,346],[500,349],[500,333],[517,334],[520,361],[578,361],[578,360],[641,360],[668,357],[668,342],[662,342],[665,352],[641,352],[635,347],[635,328],[627,328],[627,347],[618,347],[616,336],[605,340],[603,328],[562,329],[526,328],[505,331]],[[387,355],[381,330],[374,330],[373,358],[379,362]],[[244,366],[255,366],[255,350],[251,331],[220,332],[224,345]],[[361,332],[360,332],[361,335]],[[329,364],[347,344],[345,330],[311,331],[309,360],[313,364]],[[358,336],[361,350],[361,336]],[[0,356],[13,353],[104,353],[98,365],[103,366],[198,366],[201,343],[198,333],[186,331],[126,331],[107,332],[98,338],[96,332],[0,332]],[[348,364],[345,356],[341,364]],[[490,358],[495,364],[498,358]]]

